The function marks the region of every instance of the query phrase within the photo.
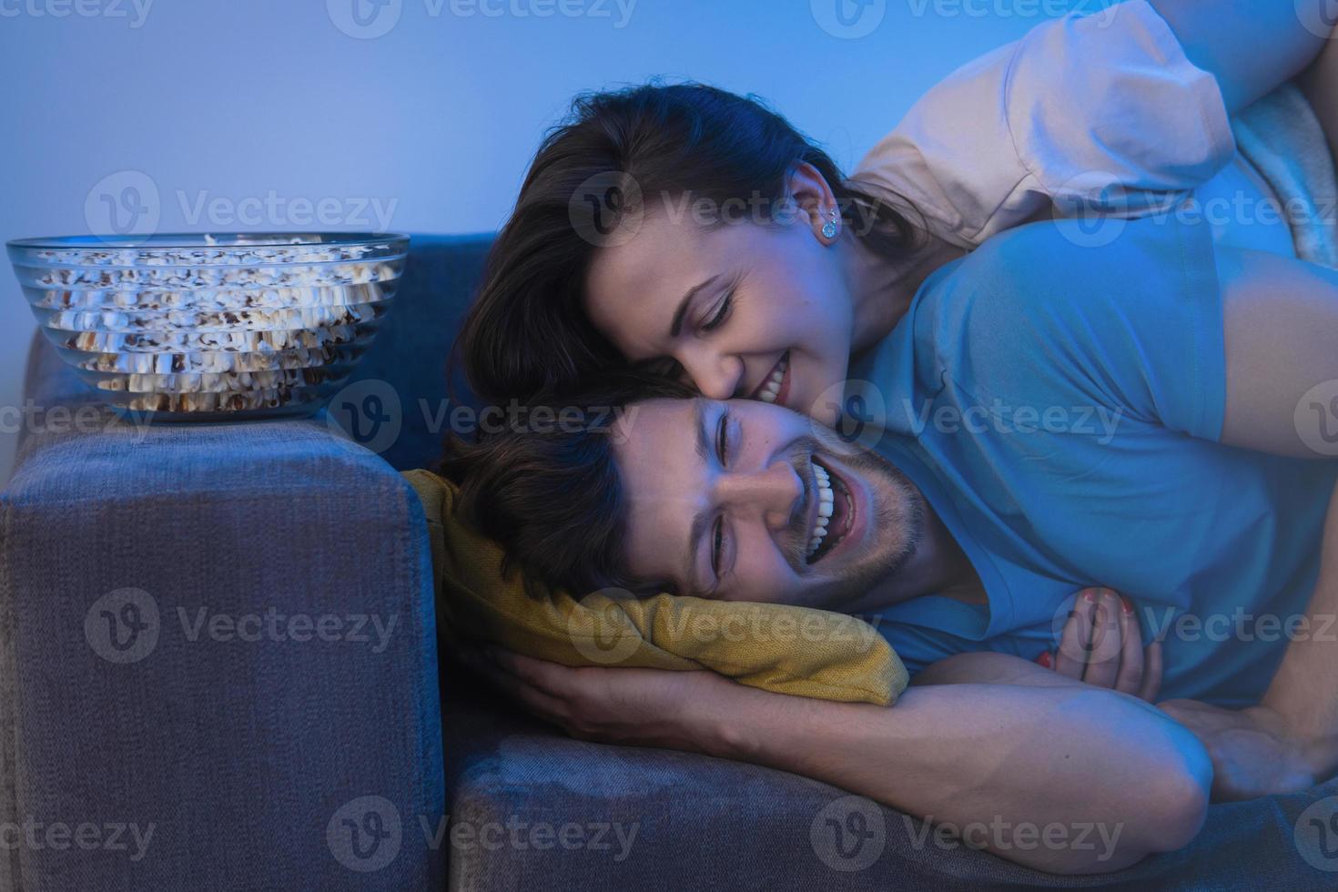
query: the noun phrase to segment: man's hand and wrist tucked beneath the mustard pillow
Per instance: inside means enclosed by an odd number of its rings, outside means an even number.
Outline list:
[[[571,667],[503,647],[460,659],[537,717],[577,740],[713,753],[740,685],[706,670]]]

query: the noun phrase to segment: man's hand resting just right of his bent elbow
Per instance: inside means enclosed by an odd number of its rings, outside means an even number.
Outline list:
[[[1294,793],[1318,780],[1310,746],[1267,706],[1235,710],[1168,699],[1157,709],[1193,732],[1208,750],[1214,801]]]

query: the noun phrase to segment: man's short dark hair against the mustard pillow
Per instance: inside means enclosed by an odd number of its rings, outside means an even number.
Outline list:
[[[613,421],[632,403],[693,395],[677,381],[618,373],[563,401],[531,401],[488,433],[448,435],[436,471],[460,487],[458,516],[502,546],[504,570],[519,568],[531,596],[537,579],[577,598],[609,587],[644,591],[661,583],[628,567]],[[551,420],[534,423],[535,408]]]

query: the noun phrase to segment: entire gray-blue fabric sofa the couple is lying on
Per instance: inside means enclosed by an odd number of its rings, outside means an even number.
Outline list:
[[[1064,879],[804,777],[577,742],[482,693],[439,659],[397,469],[435,455],[487,245],[413,239],[359,369],[400,403],[376,452],[324,416],[118,421],[33,342],[25,392],[48,412],[0,495],[0,892],[1338,887],[1338,784],[1215,805],[1187,849]]]

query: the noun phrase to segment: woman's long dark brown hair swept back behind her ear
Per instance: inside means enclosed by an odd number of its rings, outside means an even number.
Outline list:
[[[452,364],[462,360],[474,392],[490,400],[561,392],[625,365],[582,306],[599,235],[615,231],[619,217],[644,214],[636,195],[752,202],[769,217],[799,162],[818,169],[871,250],[914,249],[918,230],[892,207],[896,197],[846,179],[756,98],[692,83],[578,96],[539,146],[492,245]]]

